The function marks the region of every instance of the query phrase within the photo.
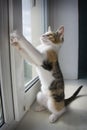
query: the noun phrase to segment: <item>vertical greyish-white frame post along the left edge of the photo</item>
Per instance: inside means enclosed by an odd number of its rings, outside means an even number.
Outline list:
[[[3,130],[14,122],[14,108],[12,96],[10,55],[9,55],[9,34],[8,34],[8,1],[0,1],[0,80],[2,104],[4,113]]]

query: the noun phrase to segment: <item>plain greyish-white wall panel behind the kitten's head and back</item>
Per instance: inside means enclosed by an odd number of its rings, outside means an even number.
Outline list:
[[[56,30],[64,25],[60,66],[65,79],[78,77],[78,0],[49,0],[48,23]]]

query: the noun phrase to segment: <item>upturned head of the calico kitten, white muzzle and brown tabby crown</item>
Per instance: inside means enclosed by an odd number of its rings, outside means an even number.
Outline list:
[[[56,32],[52,32],[49,27],[48,32],[40,37],[40,41],[45,45],[61,45],[64,41],[64,26],[61,26]]]

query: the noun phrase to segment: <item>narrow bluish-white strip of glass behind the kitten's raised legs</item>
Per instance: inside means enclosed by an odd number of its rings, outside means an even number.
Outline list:
[[[30,0],[22,0],[23,35],[31,42],[31,10]],[[32,79],[32,66],[24,61],[24,83]]]

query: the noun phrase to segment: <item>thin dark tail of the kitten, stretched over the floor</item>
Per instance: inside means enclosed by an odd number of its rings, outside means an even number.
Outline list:
[[[65,99],[65,106],[69,105],[72,101],[74,101],[77,98],[77,95],[82,89],[82,87],[83,86],[80,86],[70,98]]]

